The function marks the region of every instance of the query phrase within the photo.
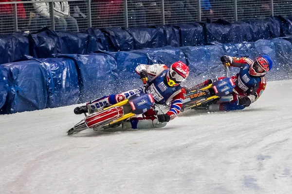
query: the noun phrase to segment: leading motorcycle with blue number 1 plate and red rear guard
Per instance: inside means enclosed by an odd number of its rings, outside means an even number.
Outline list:
[[[69,129],[67,133],[72,135],[85,129],[98,131],[116,127],[132,116],[145,113],[152,108],[154,109],[154,98],[151,94],[146,93],[146,84],[144,84],[143,93],[103,108],[103,110],[96,113],[89,115],[84,113],[85,118]]]

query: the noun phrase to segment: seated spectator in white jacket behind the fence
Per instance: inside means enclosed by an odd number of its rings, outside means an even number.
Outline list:
[[[54,16],[55,16],[55,30],[56,31],[73,31],[79,32],[78,24],[74,17],[69,14],[68,1],[53,2]],[[38,14],[37,25],[49,25],[50,21],[50,4],[49,2],[34,3],[36,12]],[[42,27],[45,27],[42,26]]]

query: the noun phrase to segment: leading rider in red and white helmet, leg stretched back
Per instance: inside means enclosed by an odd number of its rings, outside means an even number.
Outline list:
[[[170,104],[167,113],[158,114],[153,109],[148,110],[142,116],[132,117],[129,121],[122,123],[123,129],[151,129],[162,128],[166,123],[174,119],[181,111],[185,90],[180,85],[189,74],[189,67],[183,62],[175,62],[168,68],[164,64],[138,65],[135,69],[140,79],[146,83],[149,93],[152,94],[155,103],[161,105]],[[149,80],[148,80],[149,77]],[[85,106],[76,107],[75,114],[93,113],[104,107],[116,104],[135,94],[142,93],[141,89],[129,90],[121,94],[104,96],[87,103]],[[158,121],[157,121],[158,119]]]

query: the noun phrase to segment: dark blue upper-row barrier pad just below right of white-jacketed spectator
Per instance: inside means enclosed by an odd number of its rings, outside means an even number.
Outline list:
[[[57,52],[63,54],[87,54],[94,52],[98,47],[94,36],[79,32],[57,32]]]

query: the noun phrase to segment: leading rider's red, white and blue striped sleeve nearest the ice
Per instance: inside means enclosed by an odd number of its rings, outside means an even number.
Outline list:
[[[183,99],[185,98],[185,90],[184,88],[182,91],[174,96],[171,101],[170,109],[166,113],[170,116],[170,120],[174,119],[180,112],[181,108],[183,107]]]

